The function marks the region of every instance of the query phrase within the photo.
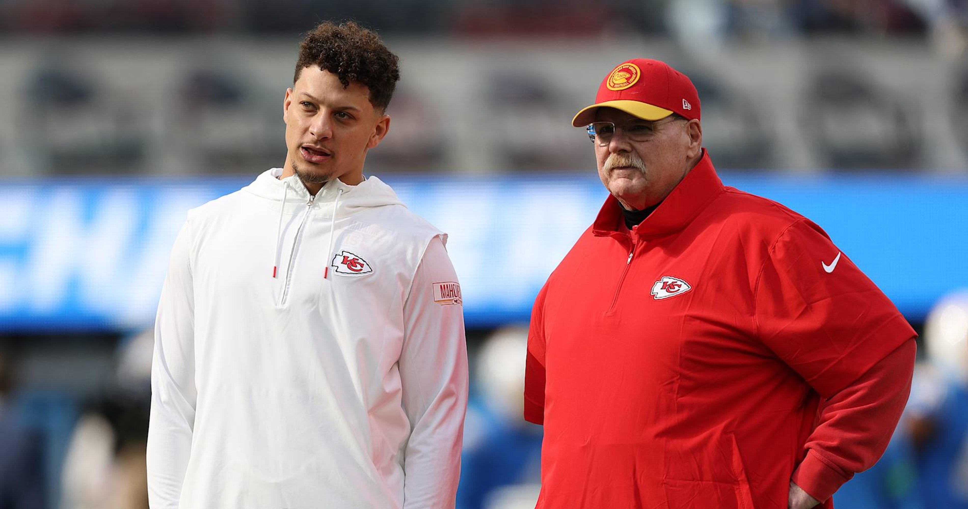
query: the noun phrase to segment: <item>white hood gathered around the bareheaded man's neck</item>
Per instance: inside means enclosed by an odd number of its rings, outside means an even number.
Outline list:
[[[288,213],[302,210],[309,200],[309,191],[299,177],[290,175],[280,179],[279,176],[282,174],[283,168],[267,169],[242,190],[275,202],[282,202],[285,199],[284,209]],[[339,207],[336,209],[338,217],[348,216],[359,212],[360,209],[404,204],[393,189],[377,177],[367,177],[356,186],[348,186],[340,179],[334,178],[322,186],[316,195],[316,202],[331,203],[337,199],[337,196],[339,196]],[[328,208],[323,205],[320,210],[328,210]]]

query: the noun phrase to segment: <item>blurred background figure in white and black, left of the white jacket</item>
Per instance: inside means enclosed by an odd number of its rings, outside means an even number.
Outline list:
[[[144,461],[154,329],[122,340],[114,375],[75,426],[61,472],[61,509],[147,509]]]

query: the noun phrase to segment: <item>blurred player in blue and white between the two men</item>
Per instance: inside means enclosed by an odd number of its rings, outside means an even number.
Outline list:
[[[533,506],[541,473],[541,428],[521,420],[527,351],[528,328],[509,326],[495,331],[477,352],[458,509]]]

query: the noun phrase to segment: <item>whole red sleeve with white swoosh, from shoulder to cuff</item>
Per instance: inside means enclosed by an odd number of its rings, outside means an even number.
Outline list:
[[[828,400],[793,479],[826,500],[883,454],[910,391],[917,334],[808,220],[773,243],[755,295],[759,340]]]

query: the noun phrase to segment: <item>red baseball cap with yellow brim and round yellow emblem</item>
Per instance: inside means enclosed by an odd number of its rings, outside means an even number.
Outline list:
[[[648,58],[626,60],[606,75],[595,104],[579,111],[571,125],[589,125],[599,107],[614,107],[645,120],[659,120],[673,113],[690,120],[700,117],[699,94],[692,81],[669,64]]]

